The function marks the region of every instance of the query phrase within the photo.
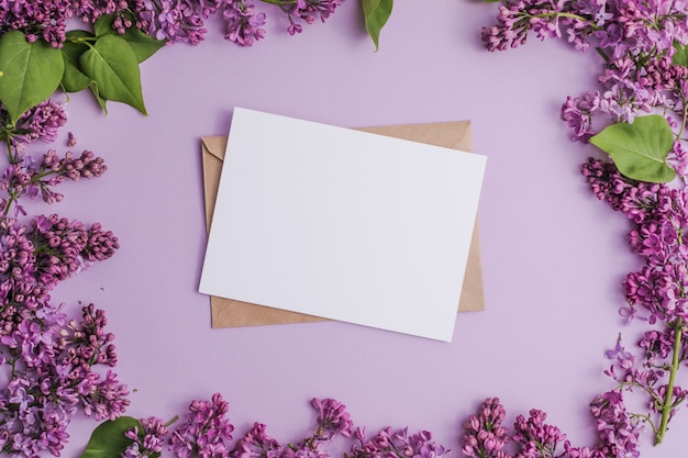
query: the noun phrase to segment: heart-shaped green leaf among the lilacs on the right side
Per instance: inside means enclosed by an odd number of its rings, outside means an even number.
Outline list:
[[[676,172],[666,164],[674,147],[674,133],[659,114],[636,118],[632,124],[612,124],[590,138],[608,153],[619,171],[639,181],[667,182]]]

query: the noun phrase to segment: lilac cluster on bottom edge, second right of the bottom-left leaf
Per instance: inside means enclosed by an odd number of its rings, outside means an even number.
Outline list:
[[[228,411],[229,404],[220,393],[211,401],[192,401],[185,423],[171,432],[169,449],[178,458],[228,457],[234,431]]]

